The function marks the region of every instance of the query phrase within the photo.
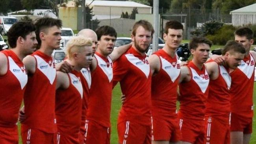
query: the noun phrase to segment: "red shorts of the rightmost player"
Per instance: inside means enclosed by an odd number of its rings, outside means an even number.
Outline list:
[[[252,133],[252,118],[231,113],[230,131],[243,131],[244,134]]]

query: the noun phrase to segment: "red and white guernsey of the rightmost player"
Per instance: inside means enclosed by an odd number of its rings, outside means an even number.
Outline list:
[[[230,74],[231,112],[248,118],[253,116],[254,66],[255,60],[250,54]]]

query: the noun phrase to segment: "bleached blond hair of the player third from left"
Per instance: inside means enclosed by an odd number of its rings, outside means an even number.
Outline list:
[[[74,53],[80,53],[84,46],[92,46],[93,42],[89,38],[76,36],[67,42],[66,53],[69,59],[73,58]]]

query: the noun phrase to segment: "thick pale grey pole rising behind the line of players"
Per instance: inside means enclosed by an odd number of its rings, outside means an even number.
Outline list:
[[[154,19],[154,30],[152,41],[152,52],[158,50],[158,31],[159,31],[159,0],[153,0],[153,19]]]

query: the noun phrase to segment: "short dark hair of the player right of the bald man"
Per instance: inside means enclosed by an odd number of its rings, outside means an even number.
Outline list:
[[[98,37],[98,41],[100,41],[102,35],[110,35],[111,37],[117,38],[117,32],[111,26],[101,26],[95,30],[95,33]]]

